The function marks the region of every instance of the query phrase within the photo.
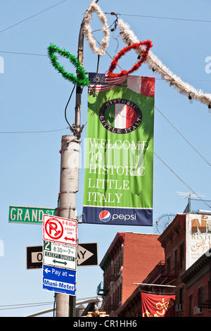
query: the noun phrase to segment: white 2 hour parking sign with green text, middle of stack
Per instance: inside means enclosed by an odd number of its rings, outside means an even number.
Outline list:
[[[77,246],[44,241],[43,263],[46,266],[76,270]]]

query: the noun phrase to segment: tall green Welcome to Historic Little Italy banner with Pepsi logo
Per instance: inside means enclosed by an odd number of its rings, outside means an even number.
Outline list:
[[[89,86],[82,222],[152,226],[155,79],[98,80]]]

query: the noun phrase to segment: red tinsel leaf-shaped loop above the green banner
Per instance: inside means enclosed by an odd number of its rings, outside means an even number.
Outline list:
[[[146,46],[145,51],[141,53],[141,59],[136,62],[131,69],[129,70],[122,70],[120,73],[113,73],[113,70],[115,70],[117,66],[117,62],[120,60],[120,58],[127,53],[127,51],[130,51],[131,49],[138,49],[139,46]],[[141,66],[141,64],[146,61],[146,58],[148,56],[148,51],[153,46],[151,40],[146,40],[146,42],[137,42],[136,44],[132,44],[129,46],[124,47],[124,49],[121,49],[119,53],[113,58],[113,61],[110,63],[110,67],[108,69],[108,76],[109,77],[122,77],[125,75],[129,75],[129,73],[133,73],[134,71],[138,70]]]

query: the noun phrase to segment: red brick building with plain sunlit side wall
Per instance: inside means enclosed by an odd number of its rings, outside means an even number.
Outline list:
[[[117,232],[100,263],[103,284],[98,294],[103,295],[103,311],[115,316],[117,308],[134,292],[153,268],[164,259],[158,235]]]

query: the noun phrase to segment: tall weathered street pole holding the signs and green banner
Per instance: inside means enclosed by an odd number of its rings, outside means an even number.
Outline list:
[[[92,1],[91,1],[92,2]],[[98,0],[94,0],[95,3]],[[79,30],[78,41],[78,59],[83,64],[84,50],[84,19]],[[76,219],[75,214],[75,195],[79,185],[79,144],[81,135],[81,96],[82,87],[76,87],[75,99],[75,135],[62,137],[61,167],[60,167],[60,206],[58,208],[58,216],[64,218]],[[56,317],[75,317],[75,296],[67,296],[64,294],[56,295]]]

